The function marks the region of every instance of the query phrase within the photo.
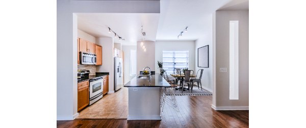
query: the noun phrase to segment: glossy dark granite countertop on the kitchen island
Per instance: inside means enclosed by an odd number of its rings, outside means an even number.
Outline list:
[[[138,79],[139,76],[148,75],[137,75],[130,82],[127,82],[124,87],[170,87],[171,85],[161,75],[151,75],[151,80],[147,78]]]

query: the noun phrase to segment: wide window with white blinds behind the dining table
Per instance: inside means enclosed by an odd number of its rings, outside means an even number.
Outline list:
[[[189,51],[163,51],[163,69],[167,75],[174,74],[174,69],[188,68]]]

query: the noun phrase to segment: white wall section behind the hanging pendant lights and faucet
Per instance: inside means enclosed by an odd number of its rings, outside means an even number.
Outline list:
[[[145,67],[149,67],[151,71],[155,71],[155,42],[143,41],[143,45],[146,51],[143,51],[140,42],[137,42],[137,74],[143,71]]]

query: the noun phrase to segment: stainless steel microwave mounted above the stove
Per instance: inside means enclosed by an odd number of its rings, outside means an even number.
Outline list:
[[[80,52],[80,63],[82,65],[96,65],[97,57],[95,54]]]

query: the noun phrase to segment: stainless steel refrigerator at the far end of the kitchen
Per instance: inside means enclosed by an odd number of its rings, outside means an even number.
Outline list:
[[[122,58],[114,57],[114,90],[123,87]]]

